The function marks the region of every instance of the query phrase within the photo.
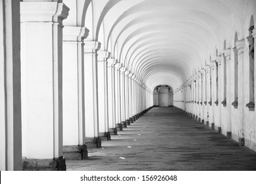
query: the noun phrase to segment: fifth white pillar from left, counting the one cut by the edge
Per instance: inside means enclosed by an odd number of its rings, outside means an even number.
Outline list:
[[[101,139],[110,140],[109,134],[109,105],[107,59],[111,56],[108,51],[98,51],[98,97],[99,97],[99,135]]]

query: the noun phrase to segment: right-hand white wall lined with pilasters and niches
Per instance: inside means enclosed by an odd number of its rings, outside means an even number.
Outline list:
[[[253,26],[254,28],[254,26]],[[255,65],[249,54],[256,30],[247,39],[234,39],[215,59],[174,91],[174,106],[189,116],[256,150]],[[249,72],[248,72],[249,71]]]

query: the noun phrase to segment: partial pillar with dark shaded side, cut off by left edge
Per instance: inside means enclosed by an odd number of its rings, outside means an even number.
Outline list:
[[[0,3],[0,170],[22,170],[20,1]]]

